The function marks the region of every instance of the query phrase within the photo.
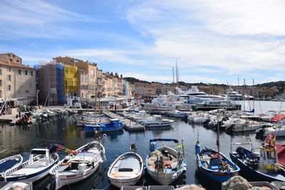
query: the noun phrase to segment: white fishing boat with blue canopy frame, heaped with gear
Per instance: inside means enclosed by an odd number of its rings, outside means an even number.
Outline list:
[[[158,183],[167,186],[186,171],[183,141],[175,148],[157,147],[157,142],[175,142],[177,139],[150,139],[150,154],[145,159],[148,174]]]

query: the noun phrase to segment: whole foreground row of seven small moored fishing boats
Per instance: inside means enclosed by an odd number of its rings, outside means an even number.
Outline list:
[[[175,143],[169,145],[170,142]],[[158,146],[158,143],[162,145]],[[167,144],[167,145],[165,145]],[[232,145],[239,145],[232,151]],[[204,147],[201,149],[199,139],[195,144],[195,158],[199,171],[209,179],[217,182],[229,180],[241,171],[254,178],[255,181],[285,181],[284,149],[285,144],[276,144],[274,134],[266,138],[256,152],[246,149],[243,143],[231,145],[230,159],[218,149]],[[68,152],[59,160],[57,152]],[[138,183],[145,168],[147,173],[162,185],[172,184],[187,169],[184,142],[177,139],[150,139],[149,154],[145,162],[136,153],[135,144],[130,152],[120,155],[110,164],[108,179],[117,187],[133,186]],[[56,181],[56,189],[82,181],[92,175],[105,162],[105,148],[99,141],[89,142],[76,150],[60,144],[53,144],[49,149],[32,149],[29,159],[23,162],[21,155],[0,160],[1,181],[38,181],[47,174]]]

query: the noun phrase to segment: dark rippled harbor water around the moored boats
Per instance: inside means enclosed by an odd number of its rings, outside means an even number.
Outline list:
[[[243,103],[241,101],[242,105]],[[247,101],[248,105],[252,103],[252,101]],[[266,113],[268,110],[279,111],[282,109],[282,106],[281,102],[255,102],[257,113]],[[246,107],[246,109],[249,109],[249,107]],[[28,159],[30,150],[36,147],[49,147],[50,144],[57,143],[69,149],[77,149],[83,144],[93,141],[94,135],[92,133],[88,134],[80,127],[76,127],[77,120],[77,115],[71,115],[70,117],[56,118],[44,123],[38,122],[31,126],[1,125],[0,149],[6,149],[6,151],[0,156],[4,158],[14,154],[22,154],[24,155],[24,159]],[[158,128],[141,132],[127,132],[125,130],[121,132],[108,132],[106,133],[107,137],[104,138],[107,161],[103,162],[98,171],[90,176],[90,178],[81,181],[79,184],[66,186],[64,189],[116,189],[108,181],[108,167],[120,154],[129,151],[131,142],[135,142],[138,154],[145,159],[148,153],[150,138],[176,138],[180,142],[182,139],[184,140],[187,172],[180,176],[180,179],[175,181],[175,184],[202,184],[207,189],[220,189],[219,184],[214,184],[214,182],[205,179],[202,174],[197,172],[195,165],[195,142],[197,141],[198,133],[199,142],[202,147],[217,149],[217,132],[207,130],[202,125],[189,124],[184,120],[175,120],[172,127],[164,129]],[[221,152],[229,157],[230,143],[232,141],[242,142],[245,137],[252,139],[254,147],[264,142],[261,139],[256,139],[254,132],[238,134],[222,132],[220,134]],[[278,138],[276,142],[285,143],[285,138]],[[170,146],[176,147],[176,144],[170,144]],[[62,158],[64,153],[60,152],[60,154]],[[158,185],[146,173],[140,180],[140,185]],[[34,189],[53,189],[53,179],[47,176],[45,179],[34,184]]]

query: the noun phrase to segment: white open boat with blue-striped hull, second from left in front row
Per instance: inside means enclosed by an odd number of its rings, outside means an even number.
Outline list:
[[[8,169],[2,176],[4,181],[38,181],[58,162],[58,154],[49,149],[32,149],[30,157],[19,167]]]

